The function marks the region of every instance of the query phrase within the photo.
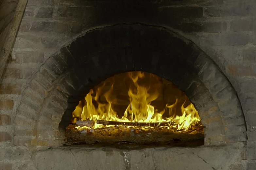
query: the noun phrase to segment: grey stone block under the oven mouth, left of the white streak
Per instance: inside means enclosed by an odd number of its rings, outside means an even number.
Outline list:
[[[84,155],[88,154],[91,156],[88,157],[87,161],[84,161]],[[95,165],[96,169],[102,170],[125,169],[123,157],[116,150],[50,149],[34,153],[32,159],[38,170],[51,168],[81,169],[81,167],[95,169]],[[112,163],[112,161],[115,161],[115,163]]]

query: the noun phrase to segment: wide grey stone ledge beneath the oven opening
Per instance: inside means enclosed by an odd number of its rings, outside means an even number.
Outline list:
[[[241,145],[236,146],[238,148]],[[37,151],[32,159],[38,170],[229,170],[240,154],[235,148],[113,149],[63,147]]]

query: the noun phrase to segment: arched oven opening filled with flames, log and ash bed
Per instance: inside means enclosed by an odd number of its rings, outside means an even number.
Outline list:
[[[70,143],[204,144],[194,105],[171,81],[133,71],[94,86],[66,128]]]

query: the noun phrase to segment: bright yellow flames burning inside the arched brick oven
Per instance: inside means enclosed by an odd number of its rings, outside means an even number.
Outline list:
[[[73,112],[72,122],[75,123],[77,119],[80,120],[94,120],[93,129],[104,127],[102,124],[97,124],[97,120],[109,120],[119,122],[172,122],[172,127],[177,130],[187,130],[195,124],[200,124],[199,115],[189,101],[188,97],[181,92],[180,96],[176,96],[175,103],[166,104],[162,111],[158,111],[155,106],[151,105],[153,101],[158,99],[162,83],[159,81],[160,77],[144,73],[144,72],[128,72],[127,75],[131,84],[128,90],[129,104],[123,114],[119,117],[114,109],[114,105],[118,104],[118,99],[113,93],[114,78],[110,78],[111,88],[104,92],[106,81],[102,83],[96,90],[91,91],[85,96],[85,100],[79,102],[78,106]],[[149,79],[145,78],[145,74]],[[144,80],[147,86],[141,85],[139,80]],[[154,80],[155,83],[151,85],[150,82]],[[166,81],[166,80],[165,80]],[[118,82],[117,82],[118,83]],[[152,92],[153,90],[153,92]],[[150,91],[150,92],[149,92]],[[105,102],[102,102],[102,98]],[[181,103],[181,106],[179,106]],[[174,124],[174,125],[173,125]],[[105,125],[110,126],[110,125]],[[136,128],[136,127],[134,127]],[[144,127],[148,128],[148,127]],[[168,127],[169,129],[170,127]],[[77,126],[77,129],[90,129],[89,127]]]

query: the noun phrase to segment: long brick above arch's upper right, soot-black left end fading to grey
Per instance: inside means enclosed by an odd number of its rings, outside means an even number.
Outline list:
[[[184,32],[206,32],[206,33],[220,33],[227,30],[227,22],[193,22],[181,24],[181,29]]]

